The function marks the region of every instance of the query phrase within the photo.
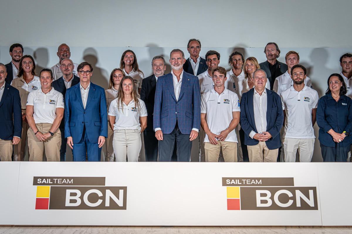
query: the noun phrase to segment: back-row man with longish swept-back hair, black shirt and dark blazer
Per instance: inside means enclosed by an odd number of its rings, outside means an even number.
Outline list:
[[[259,63],[260,69],[263,69],[270,81],[270,90],[274,87],[276,77],[287,71],[287,65],[279,62],[277,58],[280,56],[280,49],[275,42],[269,42],[264,48],[266,61]]]

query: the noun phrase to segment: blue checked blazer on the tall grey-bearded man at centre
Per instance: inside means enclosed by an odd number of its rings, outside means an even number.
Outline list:
[[[197,76],[183,72],[180,96],[176,101],[172,74],[159,76],[154,100],[153,127],[169,134],[176,125],[182,134],[200,128],[200,91]]]

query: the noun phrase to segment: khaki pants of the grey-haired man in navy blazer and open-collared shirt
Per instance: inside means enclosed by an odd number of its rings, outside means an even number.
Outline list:
[[[247,146],[250,162],[276,162],[279,149],[268,149],[265,141],[255,146]]]

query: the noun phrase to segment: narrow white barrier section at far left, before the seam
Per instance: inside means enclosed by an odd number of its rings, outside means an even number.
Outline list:
[[[0,224],[17,220],[15,205],[19,171],[20,162],[0,162]]]

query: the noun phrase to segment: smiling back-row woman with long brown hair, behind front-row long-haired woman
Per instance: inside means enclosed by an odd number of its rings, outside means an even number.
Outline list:
[[[139,98],[144,74],[138,67],[136,54],[130,49],[127,49],[124,53],[122,53],[120,68],[126,73],[126,75],[132,77],[134,87],[136,88],[137,97]]]

